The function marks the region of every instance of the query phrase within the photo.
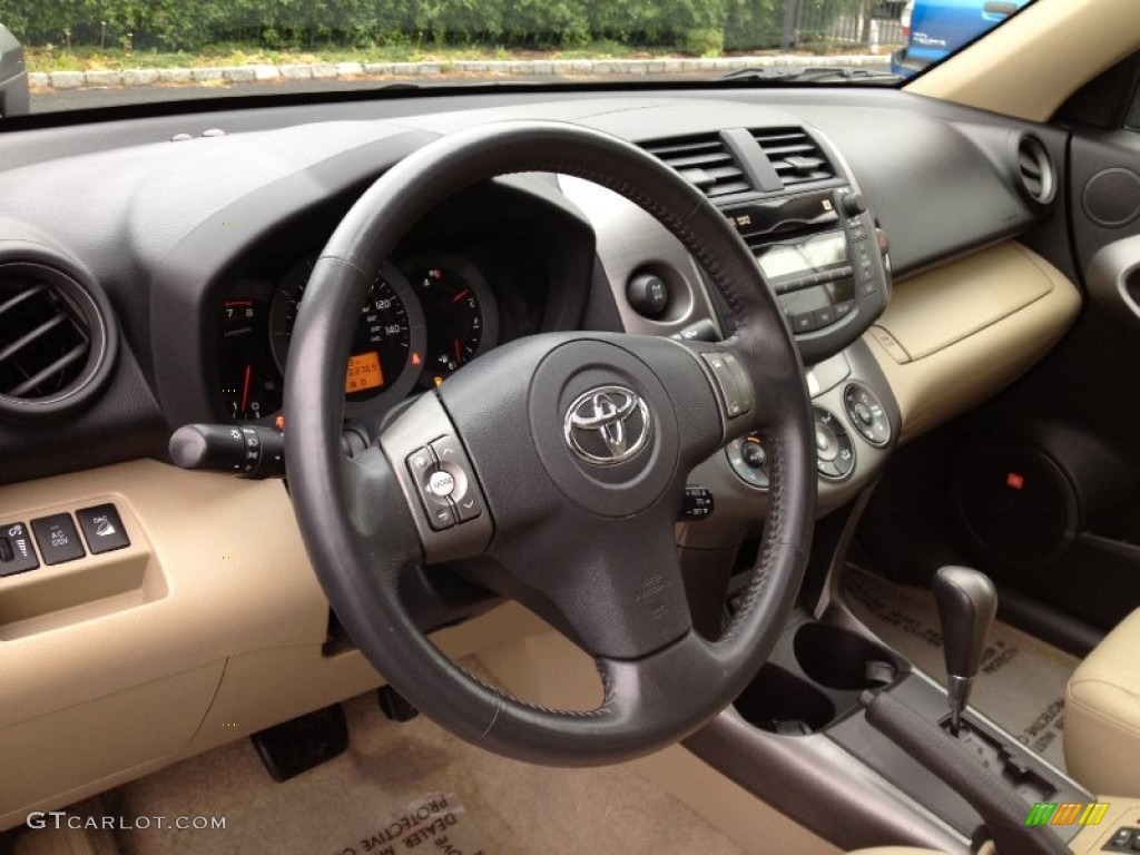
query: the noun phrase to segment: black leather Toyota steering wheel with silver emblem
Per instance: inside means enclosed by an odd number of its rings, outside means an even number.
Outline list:
[[[656,217],[731,308],[717,343],[606,333],[521,339],[465,366],[341,450],[344,366],[368,287],[397,242],[456,190],[555,172]],[[552,765],[597,765],[691,734],[767,659],[803,577],[815,449],[799,356],[748,247],[705,196],[636,146],[557,122],[503,122],[426,145],[352,206],[317,261],[285,376],[290,489],[341,622],[389,683],[477,746]],[[750,587],[716,641],[698,634],[674,544],[687,473],[764,432],[771,511]],[[400,580],[424,563],[555,610],[593,656],[591,711],[529,705],[453,663],[410,619]]]

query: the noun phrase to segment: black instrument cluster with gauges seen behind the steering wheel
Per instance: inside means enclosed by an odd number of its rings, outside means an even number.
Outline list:
[[[345,368],[350,416],[386,412],[491,348],[544,328],[549,277],[536,249],[548,236],[512,222],[507,211],[478,226],[453,217],[423,226],[376,271]],[[227,277],[215,353],[220,407],[230,420],[271,422],[280,413],[293,324],[321,246],[296,254],[270,241]]]

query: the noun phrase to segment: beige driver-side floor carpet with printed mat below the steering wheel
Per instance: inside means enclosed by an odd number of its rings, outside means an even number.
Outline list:
[[[123,855],[537,855],[743,850],[628,767],[551,769],[489,755],[423,716],[345,705],[341,757],[275,783],[249,740],[100,797],[115,816],[225,817],[225,830],[117,831]]]

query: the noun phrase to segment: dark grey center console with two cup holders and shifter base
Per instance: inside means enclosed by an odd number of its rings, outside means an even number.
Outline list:
[[[1100,811],[1093,793],[972,708],[954,735],[946,691],[833,594],[817,614],[793,613],[748,690],[686,741],[694,754],[848,848],[964,855],[994,839],[1001,853],[1093,850],[1083,841],[1096,830],[1075,808]],[[1039,805],[1072,817],[1029,822]],[[1102,844],[1113,839],[1100,831]]]

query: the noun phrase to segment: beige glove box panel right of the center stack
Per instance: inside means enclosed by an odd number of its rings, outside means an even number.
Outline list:
[[[1061,339],[1080,308],[1073,283],[1015,242],[896,283],[864,341],[898,401],[902,439],[1009,385]]]

